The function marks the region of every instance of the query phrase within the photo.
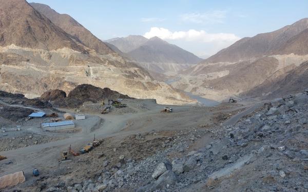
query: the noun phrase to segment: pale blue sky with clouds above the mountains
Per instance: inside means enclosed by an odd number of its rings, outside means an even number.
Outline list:
[[[308,17],[307,0],[31,0],[72,16],[102,40],[158,36],[206,58],[243,37]]]

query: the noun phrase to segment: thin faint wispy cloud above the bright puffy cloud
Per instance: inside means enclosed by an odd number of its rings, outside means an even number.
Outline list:
[[[210,11],[205,13],[185,13],[181,15],[184,22],[191,22],[196,24],[215,24],[223,23],[226,17],[226,11]]]

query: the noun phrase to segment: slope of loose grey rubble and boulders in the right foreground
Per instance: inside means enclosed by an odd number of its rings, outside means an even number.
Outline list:
[[[36,190],[308,191],[307,117],[308,90],[265,103],[232,126],[178,131],[153,146],[145,141],[141,153],[150,156],[118,155],[117,164],[103,161],[105,168],[82,182],[37,181]]]

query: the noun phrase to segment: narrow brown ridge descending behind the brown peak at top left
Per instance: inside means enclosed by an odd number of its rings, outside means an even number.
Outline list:
[[[30,5],[48,17],[53,24],[70,34],[74,39],[81,42],[85,46],[94,49],[100,54],[109,54],[113,51],[99,38],[95,37],[89,30],[84,28],[80,23],[68,14],[60,14],[51,9],[48,5],[30,3]]]

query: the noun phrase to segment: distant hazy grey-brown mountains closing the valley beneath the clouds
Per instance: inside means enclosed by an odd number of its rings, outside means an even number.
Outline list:
[[[196,55],[169,44],[159,37],[147,39],[141,35],[130,35],[112,38],[106,42],[121,51],[113,49],[115,52],[136,61],[145,69],[157,73],[177,73],[179,70],[202,61]]]

